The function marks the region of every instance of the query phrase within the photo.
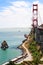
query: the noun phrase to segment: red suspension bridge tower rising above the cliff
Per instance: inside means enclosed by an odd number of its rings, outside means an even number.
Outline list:
[[[32,26],[37,27],[38,26],[38,4],[33,4],[33,18],[32,18]]]

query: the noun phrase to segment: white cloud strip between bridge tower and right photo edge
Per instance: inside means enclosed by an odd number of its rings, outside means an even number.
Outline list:
[[[38,22],[39,25],[43,24],[43,4],[42,3],[38,3]]]

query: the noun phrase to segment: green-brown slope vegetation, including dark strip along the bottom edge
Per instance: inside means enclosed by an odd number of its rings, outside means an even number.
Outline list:
[[[9,64],[7,65],[38,65],[38,64],[43,64],[43,61],[40,61],[42,57],[42,52],[40,50],[40,46],[38,46],[38,43],[34,39],[34,34],[29,34],[30,35],[30,42],[29,44],[29,50],[33,56],[33,61],[23,61],[21,64],[14,64],[14,62],[10,61]]]

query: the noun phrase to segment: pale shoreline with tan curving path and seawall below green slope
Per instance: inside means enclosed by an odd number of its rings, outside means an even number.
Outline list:
[[[18,56],[17,58],[12,59],[11,61],[15,62],[16,64],[19,64],[19,63],[21,63],[23,61],[28,61],[28,60],[32,61],[31,53],[26,48],[26,43],[29,41],[29,40],[28,41],[27,40],[28,40],[28,38],[24,39],[22,41],[22,44],[17,47],[18,49],[20,49],[22,51],[22,54],[20,56]],[[6,63],[4,63],[2,65],[6,65],[8,63],[9,62],[6,62]]]

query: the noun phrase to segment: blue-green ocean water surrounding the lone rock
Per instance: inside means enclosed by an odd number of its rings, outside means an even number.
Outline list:
[[[29,32],[28,28],[0,29],[0,46],[4,40],[9,45],[7,50],[0,48],[0,65],[22,54],[17,47],[25,39],[24,34],[29,34]]]

